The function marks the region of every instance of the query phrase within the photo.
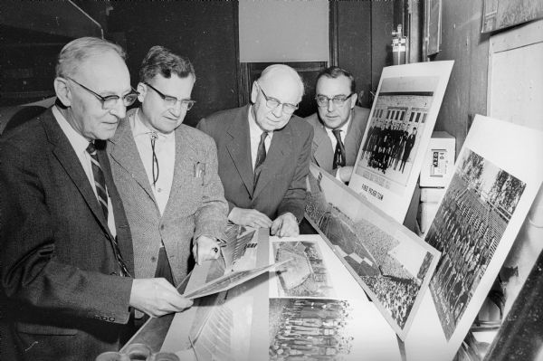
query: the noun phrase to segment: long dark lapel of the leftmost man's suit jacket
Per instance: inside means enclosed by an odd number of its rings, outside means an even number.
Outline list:
[[[98,203],[98,199],[92,191],[89,178],[81,166],[79,157],[75,154],[73,147],[71,147],[70,140],[68,140],[62,131],[61,126],[59,126],[56,119],[54,119],[51,110],[48,110],[48,113],[45,113],[43,117],[43,126],[47,138],[54,146],[52,153],[61,163],[66,174],[70,176],[73,184],[80,191],[81,196],[89,206],[92,214],[94,214],[95,218],[100,223],[101,227],[111,235],[110,228],[108,227],[108,220],[105,218],[100,204]]]

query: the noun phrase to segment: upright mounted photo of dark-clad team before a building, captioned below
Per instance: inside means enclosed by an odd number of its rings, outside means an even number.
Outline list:
[[[383,69],[349,186],[403,223],[452,61]]]

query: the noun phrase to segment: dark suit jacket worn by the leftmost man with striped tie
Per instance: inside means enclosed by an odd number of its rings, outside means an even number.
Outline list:
[[[120,252],[133,271],[129,223],[105,142],[96,144]],[[51,109],[3,136],[0,160],[3,323],[14,333],[0,352],[73,360],[118,349],[132,279],[116,275],[108,222]]]

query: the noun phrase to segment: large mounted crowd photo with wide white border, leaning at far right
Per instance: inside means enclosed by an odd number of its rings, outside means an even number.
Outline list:
[[[543,180],[543,133],[476,116],[425,241],[442,252],[430,293],[450,354],[481,309]]]

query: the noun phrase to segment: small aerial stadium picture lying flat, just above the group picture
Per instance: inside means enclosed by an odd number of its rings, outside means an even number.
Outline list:
[[[317,242],[273,242],[279,297],[334,297],[329,271]]]

